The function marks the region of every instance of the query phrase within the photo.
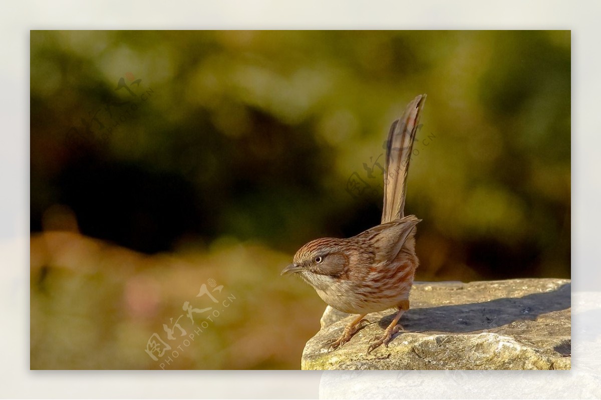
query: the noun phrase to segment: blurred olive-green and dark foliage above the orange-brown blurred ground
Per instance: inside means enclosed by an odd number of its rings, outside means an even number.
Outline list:
[[[32,31],[31,230],[63,204],[150,254],[352,236],[379,223],[389,124],[427,93],[416,279],[566,278],[570,51],[569,31]]]

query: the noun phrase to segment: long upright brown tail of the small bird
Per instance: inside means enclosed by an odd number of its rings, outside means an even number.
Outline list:
[[[392,122],[386,143],[386,171],[384,173],[384,208],[382,224],[403,218],[407,171],[413,151],[413,140],[418,129],[419,116],[426,95],[419,95],[409,104],[397,121]]]

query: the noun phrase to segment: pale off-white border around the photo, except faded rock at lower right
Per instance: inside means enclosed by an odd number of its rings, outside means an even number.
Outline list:
[[[317,395],[321,375],[309,371],[28,370],[29,29],[572,29],[573,288],[581,291],[599,290],[597,282],[601,281],[600,8],[593,2],[515,0],[4,4],[0,16],[0,396],[309,398]],[[576,332],[578,321],[574,324]],[[573,360],[573,368],[578,365]],[[405,397],[398,392],[389,395]],[[540,393],[540,397],[554,395]]]

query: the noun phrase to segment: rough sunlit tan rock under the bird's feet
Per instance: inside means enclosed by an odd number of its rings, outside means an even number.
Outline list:
[[[370,354],[394,310],[368,314],[370,324],[328,351],[353,318],[328,306],[302,369],[570,369],[569,279],[415,282],[410,303],[406,331]]]

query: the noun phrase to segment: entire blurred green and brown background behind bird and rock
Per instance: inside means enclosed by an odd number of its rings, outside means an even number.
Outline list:
[[[570,277],[569,31],[31,31],[30,73],[32,369],[300,368],[279,271],[379,223],[421,93],[416,280]]]

